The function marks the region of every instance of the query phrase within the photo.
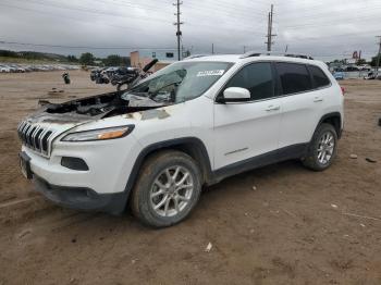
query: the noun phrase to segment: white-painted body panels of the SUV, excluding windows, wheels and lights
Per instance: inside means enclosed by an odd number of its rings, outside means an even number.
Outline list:
[[[300,95],[269,100],[216,103],[222,86],[243,65],[257,61],[287,61],[315,64],[318,61],[284,58],[216,55],[188,60],[232,62],[226,71],[208,71],[200,76],[221,78],[202,96],[187,102],[161,108],[165,117],[144,120],[140,113],[118,115],[82,125],[49,126],[57,129],[50,158],[23,147],[32,158],[32,171],[50,184],[69,187],[88,187],[99,194],[121,193],[138,153],[147,146],[163,140],[196,137],[206,146],[212,170],[226,166],[282,147],[308,142],[324,113],[340,112],[343,117],[343,96],[335,79],[327,72],[332,86]],[[325,69],[323,69],[325,71]],[[315,102],[315,98],[323,101]],[[70,132],[133,124],[134,131],[123,137],[103,141],[67,142],[60,139]],[[237,151],[239,150],[239,151]],[[225,153],[230,153],[225,156]],[[61,158],[82,158],[89,171],[78,172],[61,165]]]

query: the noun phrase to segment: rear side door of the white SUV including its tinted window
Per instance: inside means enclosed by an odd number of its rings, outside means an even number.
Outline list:
[[[275,66],[283,96],[279,148],[306,144],[311,139],[324,104],[321,87],[329,86],[330,80],[320,78],[319,87],[303,63],[278,62]]]

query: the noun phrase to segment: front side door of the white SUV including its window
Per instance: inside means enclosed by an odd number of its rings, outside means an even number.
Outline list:
[[[222,88],[250,91],[248,102],[214,103],[214,169],[276,150],[281,103],[270,62],[242,67]]]

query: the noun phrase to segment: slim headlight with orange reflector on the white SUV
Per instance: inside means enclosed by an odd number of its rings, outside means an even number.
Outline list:
[[[70,133],[61,138],[62,141],[91,141],[120,138],[128,135],[134,125],[98,128],[91,131]]]

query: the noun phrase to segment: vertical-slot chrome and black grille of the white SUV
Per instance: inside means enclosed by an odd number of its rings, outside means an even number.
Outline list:
[[[24,121],[19,125],[17,134],[25,147],[49,157],[53,131]]]

